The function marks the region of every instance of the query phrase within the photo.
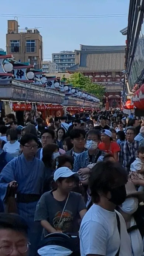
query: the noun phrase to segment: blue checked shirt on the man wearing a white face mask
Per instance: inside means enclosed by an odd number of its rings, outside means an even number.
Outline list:
[[[97,150],[96,154],[92,156],[92,161],[90,162],[90,157],[89,157],[89,150],[84,151],[83,153],[79,154],[74,161],[74,167],[73,171],[77,173],[79,169],[81,168],[86,168],[89,164],[94,164],[96,163],[96,157],[98,154],[101,154],[97,161],[102,160],[103,156],[106,154],[104,151]]]

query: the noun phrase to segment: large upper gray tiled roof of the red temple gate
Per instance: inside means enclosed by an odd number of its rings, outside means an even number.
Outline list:
[[[75,51],[75,64],[67,71],[122,71],[124,70],[125,51]]]

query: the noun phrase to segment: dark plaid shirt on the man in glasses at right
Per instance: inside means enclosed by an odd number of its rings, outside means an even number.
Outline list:
[[[141,146],[139,141],[133,140],[132,143],[124,141],[120,144],[119,162],[125,168],[127,173],[130,171],[130,162],[137,157],[138,147]],[[129,150],[128,150],[129,148]]]

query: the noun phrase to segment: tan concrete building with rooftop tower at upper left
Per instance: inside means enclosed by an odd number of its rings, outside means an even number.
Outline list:
[[[18,29],[16,20],[8,20],[6,35],[7,54],[13,54],[18,62],[29,63],[36,69],[42,68],[43,46],[42,36],[35,29]]]

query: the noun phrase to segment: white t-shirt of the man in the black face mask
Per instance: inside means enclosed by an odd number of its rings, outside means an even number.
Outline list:
[[[130,238],[123,216],[120,218],[121,238],[117,228],[116,211],[111,212],[93,204],[82,219],[79,230],[80,255],[98,254],[116,256],[132,256]]]

